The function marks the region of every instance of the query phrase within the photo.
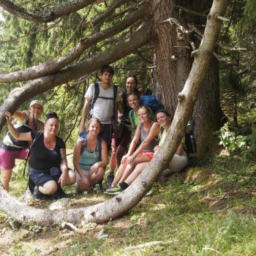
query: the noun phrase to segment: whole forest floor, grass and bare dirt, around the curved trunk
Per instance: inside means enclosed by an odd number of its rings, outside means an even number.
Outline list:
[[[18,166],[19,167],[19,166]],[[15,173],[11,194],[20,199],[26,178]],[[16,226],[0,212],[0,255],[256,255],[256,162],[229,156],[192,163],[173,173],[154,194],[105,225]],[[107,200],[65,191],[70,207]],[[34,202],[45,208],[53,201]],[[99,233],[103,236],[97,238]],[[137,247],[136,247],[137,246]]]

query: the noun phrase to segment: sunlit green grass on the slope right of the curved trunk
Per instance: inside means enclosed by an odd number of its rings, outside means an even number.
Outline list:
[[[216,157],[199,163],[193,171],[214,173],[214,178],[200,182],[176,178],[165,186],[157,184],[157,193],[145,197],[129,214],[86,233],[72,233],[72,243],[53,255],[256,255],[256,198],[253,194],[241,196],[245,191],[256,191],[255,162]],[[18,178],[13,180],[13,184],[18,182]],[[231,192],[237,195],[219,200],[219,207],[203,203],[206,196]],[[5,221],[0,214],[0,224]],[[108,238],[97,240],[101,228]],[[150,241],[170,244],[124,251],[127,246]],[[21,239],[13,246],[23,248],[23,242]]]

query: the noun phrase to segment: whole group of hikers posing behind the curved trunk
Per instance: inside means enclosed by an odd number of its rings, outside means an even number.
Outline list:
[[[9,132],[0,147],[4,189],[10,189],[15,159],[26,159],[28,151],[29,189],[35,200],[62,197],[65,194],[61,187],[75,183],[77,194],[92,191],[95,186],[102,190],[108,154],[110,167],[105,192],[120,192],[135,181],[162,146],[171,124],[170,113],[165,109],[154,113],[141,105],[135,75],[127,76],[126,90],[118,94],[112,83],[113,67],[102,67],[100,74],[101,81],[91,84],[85,94],[79,137],[73,151],[75,172],[67,165],[65,143],[57,136],[56,113],[48,113],[45,124],[40,121],[43,105],[39,100],[31,101],[29,111],[5,113]],[[12,124],[12,117],[17,124]],[[162,175],[187,165],[184,145],[183,139]]]

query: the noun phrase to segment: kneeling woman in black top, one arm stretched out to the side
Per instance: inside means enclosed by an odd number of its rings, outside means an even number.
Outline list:
[[[59,117],[48,113],[43,132],[18,132],[12,125],[12,115],[6,112],[7,126],[17,140],[33,140],[29,163],[29,180],[35,185],[33,199],[45,199],[44,195],[64,195],[61,187],[75,183],[75,173],[67,167],[66,146],[56,136]]]

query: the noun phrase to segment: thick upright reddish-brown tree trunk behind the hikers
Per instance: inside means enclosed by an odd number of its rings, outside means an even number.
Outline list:
[[[211,1],[177,1],[181,7],[202,12],[208,10]],[[189,33],[191,23],[203,24],[205,17],[192,15],[164,0],[159,3],[154,13],[156,37],[154,37],[155,66],[154,92],[162,100],[171,115],[176,110],[177,95],[183,89],[192,66],[192,47],[190,42],[199,45],[198,34]],[[196,8],[195,8],[196,7]],[[161,21],[173,18],[173,21],[161,24]],[[162,93],[162,92],[165,93]],[[159,97],[162,95],[162,97]],[[194,135],[197,143],[197,157],[204,157],[211,151],[213,132],[219,127],[222,110],[219,105],[219,70],[216,59],[211,61],[203,89],[195,104],[193,120]]]

